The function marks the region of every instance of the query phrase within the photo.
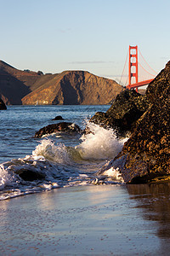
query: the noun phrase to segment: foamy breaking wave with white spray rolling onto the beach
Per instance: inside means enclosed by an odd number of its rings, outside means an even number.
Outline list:
[[[126,141],[113,130],[88,123],[91,133],[83,135],[76,147],[66,147],[43,138],[31,155],[0,165],[0,200],[59,187],[123,183],[113,168],[99,172],[113,159]]]

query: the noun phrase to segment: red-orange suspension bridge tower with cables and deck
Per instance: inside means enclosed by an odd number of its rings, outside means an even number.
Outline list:
[[[144,61],[144,63],[147,65],[147,67],[146,67],[147,70],[140,64],[139,55],[142,57],[142,60]],[[157,74],[156,71],[153,70],[150,67],[150,65],[144,60],[143,55],[141,54],[141,52],[138,49],[138,45],[136,45],[136,46],[129,45],[127,58],[126,58],[125,65],[124,65],[123,71],[122,71],[122,77],[125,72],[125,67],[127,65],[127,59],[128,59],[128,73],[127,73],[127,82],[125,84],[127,89],[129,89],[129,90],[136,89],[136,91],[138,91],[138,88],[140,86],[150,84],[150,82],[156,77],[156,74]],[[144,73],[147,73],[147,75],[150,76],[150,79],[144,79],[144,78],[142,79],[139,77],[139,67],[141,70],[143,70]],[[149,72],[148,69],[151,70],[151,72]],[[121,77],[121,80],[122,80],[122,77]],[[120,81],[120,83],[121,83],[121,81]]]

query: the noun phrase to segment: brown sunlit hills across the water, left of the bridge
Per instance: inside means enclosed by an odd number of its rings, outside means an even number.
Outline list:
[[[0,96],[7,105],[108,104],[122,90],[114,80],[87,71],[43,74],[0,61]]]

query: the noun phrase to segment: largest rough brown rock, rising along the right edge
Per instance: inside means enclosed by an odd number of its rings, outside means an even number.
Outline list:
[[[126,183],[148,183],[170,174],[170,61],[148,86],[150,108],[110,163]]]

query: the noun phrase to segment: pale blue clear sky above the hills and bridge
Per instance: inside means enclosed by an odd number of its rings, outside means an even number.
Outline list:
[[[119,80],[130,45],[157,73],[170,60],[169,0],[0,0],[0,59],[43,73]]]

